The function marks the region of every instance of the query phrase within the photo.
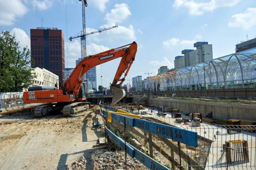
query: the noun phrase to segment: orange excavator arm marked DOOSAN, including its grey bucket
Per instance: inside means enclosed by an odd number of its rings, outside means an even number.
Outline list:
[[[69,95],[72,94],[75,98],[77,98],[79,94],[79,89],[82,83],[82,77],[86,73],[86,71],[88,71],[90,68],[96,65],[103,64],[121,57],[122,59],[116,71],[114,80],[111,84],[111,88],[113,92],[113,99],[112,99],[111,105],[116,104],[125,95],[125,92],[122,89],[121,85],[129,72],[129,69],[134,61],[136,52],[137,52],[137,44],[136,42],[133,42],[131,44],[127,44],[115,49],[110,49],[110,50],[101,52],[99,54],[86,57],[76,65],[73,72],[70,74],[69,78],[65,82],[64,84],[65,93]],[[125,72],[124,77],[121,78],[124,72]],[[118,82],[120,83],[117,84]]]

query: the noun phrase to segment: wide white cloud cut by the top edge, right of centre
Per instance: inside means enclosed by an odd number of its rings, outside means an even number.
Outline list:
[[[202,15],[204,12],[213,12],[218,8],[233,7],[241,0],[210,0],[208,2],[196,2],[194,0],[175,0],[173,7],[188,8],[191,15]]]

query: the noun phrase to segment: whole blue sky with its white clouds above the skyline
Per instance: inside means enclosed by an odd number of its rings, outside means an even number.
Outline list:
[[[196,41],[213,46],[213,58],[234,53],[235,44],[256,37],[255,0],[87,0],[87,31],[118,28],[87,36],[87,55],[136,41],[138,51],[127,79],[145,72],[157,74],[162,65],[174,67],[174,57],[193,49]],[[82,29],[78,0],[0,0],[0,30],[15,33],[21,46],[30,45],[30,28],[58,27],[65,36],[65,65],[80,57]],[[120,60],[97,66],[97,85],[112,82]],[[124,83],[127,83],[125,81]]]

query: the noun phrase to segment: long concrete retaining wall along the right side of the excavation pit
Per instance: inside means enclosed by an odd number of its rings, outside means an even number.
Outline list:
[[[133,102],[139,101],[140,97],[133,97]],[[172,100],[172,99],[149,99],[150,105],[173,107],[182,113],[202,113],[203,116],[212,111],[213,118],[241,119],[256,121],[256,106],[233,105],[224,103],[207,103],[196,101]]]

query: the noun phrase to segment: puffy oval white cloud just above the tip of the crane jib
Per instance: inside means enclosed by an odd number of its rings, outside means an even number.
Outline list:
[[[127,4],[115,4],[115,8],[105,15],[104,20],[109,25],[115,25],[116,23],[122,23],[130,15],[131,12]]]

